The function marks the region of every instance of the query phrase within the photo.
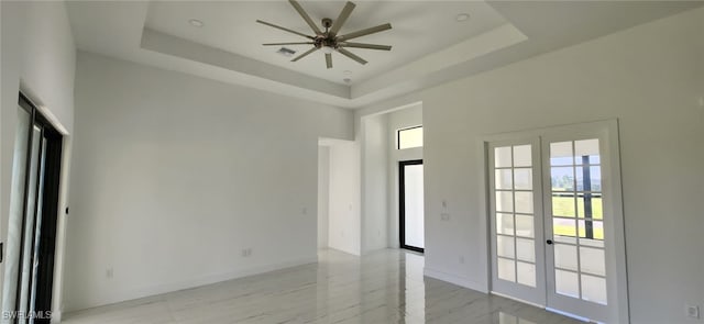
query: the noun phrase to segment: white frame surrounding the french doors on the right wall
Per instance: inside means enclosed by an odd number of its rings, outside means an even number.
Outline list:
[[[493,260],[493,235],[492,231],[495,231],[492,222],[492,201],[490,200],[492,194],[494,194],[492,189],[493,176],[488,174],[491,169],[490,160],[490,143],[509,143],[516,142],[526,138],[540,138],[541,143],[548,143],[548,141],[553,141],[556,138],[564,138],[566,139],[575,139],[583,136],[592,136],[594,138],[595,134],[598,135],[600,142],[603,143],[601,147],[601,154],[604,156],[604,160],[602,161],[602,181],[603,181],[603,197],[605,200],[608,200],[610,203],[604,204],[604,214],[608,215],[608,223],[605,221],[605,238],[607,242],[607,273],[608,273],[608,283],[607,283],[607,297],[608,297],[608,311],[605,314],[604,321],[607,323],[630,323],[629,319],[629,306],[628,306],[628,281],[627,281],[627,265],[626,265],[626,242],[625,242],[625,226],[624,226],[624,212],[623,212],[623,198],[622,198],[622,176],[620,176],[620,152],[619,152],[619,139],[618,139],[618,121],[617,120],[606,120],[606,121],[596,121],[588,123],[580,123],[580,124],[571,124],[571,125],[560,125],[553,127],[544,127],[538,130],[529,130],[529,131],[519,131],[519,132],[510,132],[510,133],[502,133],[494,135],[486,135],[480,138],[480,147],[482,149],[484,160],[482,164],[482,172],[484,175],[484,186],[482,191],[484,194],[484,199],[481,200],[481,211],[485,214],[485,220],[487,220],[487,228],[486,228],[486,238],[487,238],[487,273],[488,273],[488,290],[493,291],[492,282],[493,282],[493,269],[495,267]],[[569,136],[569,137],[564,137]],[[546,141],[547,139],[547,141]],[[542,146],[542,145],[540,145]],[[546,154],[540,147],[537,152],[539,152],[540,158],[543,159],[543,155]],[[544,164],[544,161],[542,163]],[[541,166],[540,169],[544,172],[544,166]],[[549,166],[548,166],[549,170]],[[547,174],[549,175],[549,172]],[[536,175],[534,175],[536,177]],[[542,177],[541,177],[542,178]],[[543,185],[543,188],[540,190],[544,191],[544,186],[549,186],[549,183]],[[539,190],[539,191],[540,191]],[[549,192],[549,191],[548,191]],[[538,191],[536,191],[538,194]],[[543,197],[548,195],[547,193],[542,194]],[[543,202],[544,204],[544,202]],[[546,205],[544,212],[549,212],[547,210],[549,205]],[[536,206],[538,209],[538,206]],[[537,215],[536,211],[536,215]],[[547,217],[546,217],[547,219]],[[542,233],[544,232],[544,228]],[[539,228],[536,228],[536,232],[540,232]],[[538,235],[536,234],[536,244],[538,244]],[[541,242],[544,248],[544,239]],[[547,255],[546,255],[547,257]],[[546,262],[547,264],[547,262]],[[552,288],[548,288],[552,289]],[[503,293],[499,293],[503,294]],[[536,305],[548,305],[548,295],[547,290],[546,293],[541,297],[542,302],[535,302],[536,299],[524,299],[518,297],[510,297],[518,300],[526,301]],[[548,305],[549,306],[549,305]],[[557,311],[561,311],[556,309]]]

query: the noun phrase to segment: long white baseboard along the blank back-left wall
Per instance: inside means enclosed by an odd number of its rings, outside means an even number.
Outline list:
[[[261,275],[265,272],[271,272],[275,270],[280,270],[285,268],[292,268],[292,267],[297,267],[297,266],[302,266],[308,264],[315,264],[315,262],[318,262],[317,255],[312,257],[285,260],[283,262],[254,266],[251,268],[239,269],[235,271],[230,271],[224,273],[206,275],[202,277],[191,278],[188,280],[174,281],[174,282],[155,284],[150,287],[141,287],[138,289],[125,290],[123,292],[119,292],[117,294],[113,294],[111,297],[108,297],[101,300],[94,300],[89,303],[79,304],[79,305],[69,305],[67,309],[64,310],[64,312],[70,313],[70,312],[77,312],[86,309],[92,309],[92,308],[99,308],[99,306],[105,306],[109,304],[125,302],[125,301],[133,301],[133,300],[150,298],[150,297],[154,297],[163,293],[197,288],[201,286],[218,283],[218,282],[228,281],[232,279],[243,278],[243,277],[253,276],[253,275]],[[59,315],[61,315],[61,312],[59,312]]]

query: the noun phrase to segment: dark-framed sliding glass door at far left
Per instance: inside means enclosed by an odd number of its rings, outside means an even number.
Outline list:
[[[62,135],[20,96],[13,160],[13,215],[9,224],[4,316],[50,323],[58,215]],[[9,282],[14,281],[14,282]]]

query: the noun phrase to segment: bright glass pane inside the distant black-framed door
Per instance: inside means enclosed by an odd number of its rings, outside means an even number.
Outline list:
[[[404,166],[404,234],[408,246],[425,247],[422,165]]]

